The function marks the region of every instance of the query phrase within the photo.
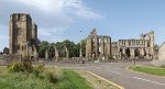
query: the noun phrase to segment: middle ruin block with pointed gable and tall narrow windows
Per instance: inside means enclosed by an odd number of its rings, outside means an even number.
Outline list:
[[[94,29],[87,37],[86,57],[103,59],[111,57],[111,37],[97,35],[97,31]]]

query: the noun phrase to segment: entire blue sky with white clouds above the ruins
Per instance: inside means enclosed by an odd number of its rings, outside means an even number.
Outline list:
[[[98,34],[139,38],[154,30],[155,42],[165,41],[165,0],[0,0],[0,51],[9,44],[9,15],[30,13],[38,38],[79,42],[96,27]],[[80,33],[82,31],[82,33]]]

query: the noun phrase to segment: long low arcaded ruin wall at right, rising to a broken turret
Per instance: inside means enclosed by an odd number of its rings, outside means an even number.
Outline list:
[[[154,58],[154,32],[142,34],[140,40],[119,40],[112,43],[113,58]]]

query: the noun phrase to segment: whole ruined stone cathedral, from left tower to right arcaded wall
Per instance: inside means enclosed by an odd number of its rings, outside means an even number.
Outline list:
[[[37,38],[37,25],[33,23],[30,14],[11,14],[9,20],[9,35],[10,54],[37,57],[40,43]],[[141,34],[139,40],[131,38],[112,42],[110,36],[98,35],[97,30],[94,29],[86,38],[86,58],[154,58],[154,31]],[[67,48],[65,51],[68,52]],[[59,51],[52,46],[45,53],[46,58],[58,58],[59,56]]]

